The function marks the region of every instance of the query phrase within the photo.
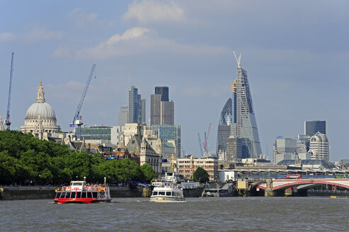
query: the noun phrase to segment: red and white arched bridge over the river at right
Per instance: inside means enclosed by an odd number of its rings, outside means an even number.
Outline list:
[[[259,181],[252,186],[256,188],[266,190],[286,190],[290,187],[298,187],[300,185],[334,185],[339,187],[345,187],[349,189],[349,178],[307,178],[307,179],[276,179],[267,181]]]

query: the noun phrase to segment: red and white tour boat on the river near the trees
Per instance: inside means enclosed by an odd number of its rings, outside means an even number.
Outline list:
[[[86,185],[85,181],[71,181],[69,186],[56,190],[54,203],[110,202],[107,185]]]

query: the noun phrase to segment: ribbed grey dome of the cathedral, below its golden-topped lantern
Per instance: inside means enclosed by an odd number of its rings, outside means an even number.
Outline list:
[[[28,108],[25,114],[25,119],[37,119],[39,115],[41,119],[56,120],[55,110],[47,103],[34,103],[30,105],[30,108]]]

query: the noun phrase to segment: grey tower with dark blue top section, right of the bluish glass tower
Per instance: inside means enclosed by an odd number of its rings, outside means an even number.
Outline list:
[[[168,87],[155,87],[155,94],[150,95],[150,125],[154,124],[174,124],[174,103],[168,101]]]

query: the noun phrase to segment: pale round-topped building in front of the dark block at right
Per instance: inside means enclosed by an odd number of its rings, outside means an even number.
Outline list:
[[[326,161],[330,159],[326,134],[316,132],[316,134],[310,138],[309,153],[311,153],[311,159],[322,159]]]

